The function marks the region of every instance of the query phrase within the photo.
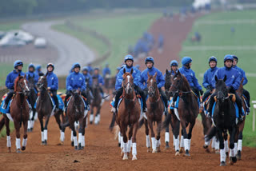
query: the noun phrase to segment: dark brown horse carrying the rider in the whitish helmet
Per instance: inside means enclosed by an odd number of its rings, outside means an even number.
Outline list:
[[[37,105],[36,105],[36,110],[38,112],[38,120],[40,121],[40,125],[41,125],[42,145],[47,145],[47,139],[48,139],[47,126],[48,126],[49,119],[52,115],[54,115],[55,120],[58,123],[58,128],[60,129],[60,144],[62,145],[65,138],[65,134],[62,129],[60,115],[63,116],[63,111],[62,109],[57,109],[54,112],[52,99],[47,89],[46,77],[47,77],[47,74],[39,78],[39,81],[38,81],[39,96],[38,96]],[[45,126],[43,125],[43,118],[45,118],[46,120]]]

